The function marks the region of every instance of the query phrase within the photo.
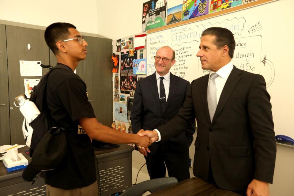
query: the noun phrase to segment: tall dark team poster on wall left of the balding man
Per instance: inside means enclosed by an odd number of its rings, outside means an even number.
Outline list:
[[[129,56],[129,51],[124,54],[121,52],[121,67],[120,67],[120,93],[130,94],[130,91],[136,89],[137,76],[134,75],[133,61],[137,59],[137,50],[134,51],[134,56]]]

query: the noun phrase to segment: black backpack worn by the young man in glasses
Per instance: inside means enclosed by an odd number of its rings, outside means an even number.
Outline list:
[[[33,128],[30,143],[32,162],[23,171],[25,181],[34,181],[40,171],[55,169],[67,153],[67,138],[65,130],[68,124],[65,119],[61,126],[55,126],[47,107],[47,81],[49,74],[55,69],[67,69],[57,65],[45,74],[31,93],[30,101],[34,102],[40,111],[29,125]],[[26,123],[24,123],[26,125]]]

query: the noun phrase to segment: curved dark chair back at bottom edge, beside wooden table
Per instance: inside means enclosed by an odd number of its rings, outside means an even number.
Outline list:
[[[125,190],[120,196],[142,196],[146,191],[153,193],[176,183],[178,183],[178,180],[175,177],[146,180]]]

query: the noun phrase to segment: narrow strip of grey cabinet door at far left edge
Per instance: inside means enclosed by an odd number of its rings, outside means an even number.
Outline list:
[[[10,141],[6,29],[0,25],[0,146]]]

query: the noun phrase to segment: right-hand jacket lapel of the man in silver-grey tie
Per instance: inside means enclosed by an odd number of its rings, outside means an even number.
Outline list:
[[[235,89],[237,83],[241,79],[240,74],[241,74],[241,70],[239,70],[238,68],[236,68],[234,66],[231,71],[231,74],[229,75],[229,77],[224,85],[223,91],[220,94],[220,99],[218,101],[217,108],[215,110],[212,123],[215,121],[217,116],[220,115],[222,109],[224,108],[225,104],[227,103],[227,101],[228,101],[229,97],[231,96],[233,90]]]

